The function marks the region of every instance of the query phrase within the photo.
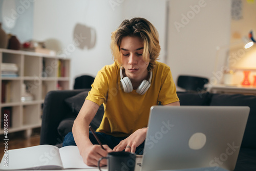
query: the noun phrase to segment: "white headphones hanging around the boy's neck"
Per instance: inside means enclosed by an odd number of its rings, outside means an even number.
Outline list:
[[[121,76],[121,85],[122,85],[122,88],[123,88],[123,91],[125,93],[130,93],[133,91],[133,85],[132,85],[132,82],[130,80],[130,78],[128,77],[124,77],[123,78],[123,73],[122,73],[122,67],[120,68],[120,76]],[[152,71],[150,72],[150,79],[147,81],[147,80],[143,80],[141,82],[141,84],[139,85],[139,87],[137,88],[136,92],[140,95],[143,95],[146,93],[146,91],[150,88],[151,86],[151,79],[152,79]]]

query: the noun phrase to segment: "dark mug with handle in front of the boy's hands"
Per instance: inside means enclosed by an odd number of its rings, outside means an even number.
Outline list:
[[[100,169],[100,161],[103,159],[108,160],[108,171],[134,171],[136,165],[136,155],[129,152],[111,152],[106,157],[101,157],[98,161]]]

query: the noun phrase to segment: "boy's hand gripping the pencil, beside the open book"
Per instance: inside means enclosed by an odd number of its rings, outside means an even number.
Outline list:
[[[105,148],[102,149],[100,145],[90,145],[84,148],[81,153],[83,162],[88,166],[98,166],[98,161],[101,157],[106,157],[108,153],[113,152],[113,150],[108,145],[103,145]],[[106,165],[107,162],[105,159],[101,160],[100,166]]]

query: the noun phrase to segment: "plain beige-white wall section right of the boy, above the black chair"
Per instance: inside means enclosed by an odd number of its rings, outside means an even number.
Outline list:
[[[169,8],[167,65],[174,80],[181,74],[216,80],[216,47],[230,40],[231,0],[172,0]]]

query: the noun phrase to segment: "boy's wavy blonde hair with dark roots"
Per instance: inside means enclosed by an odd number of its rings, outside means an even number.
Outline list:
[[[122,65],[120,54],[121,39],[126,36],[142,38],[144,42],[142,59],[145,62],[149,62],[147,70],[153,70],[161,50],[156,28],[145,18],[137,17],[131,20],[123,20],[118,29],[112,32],[110,44],[113,60],[119,65]],[[150,57],[148,58],[148,56]]]

